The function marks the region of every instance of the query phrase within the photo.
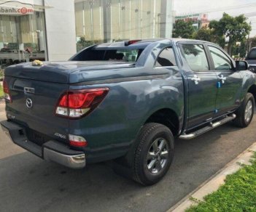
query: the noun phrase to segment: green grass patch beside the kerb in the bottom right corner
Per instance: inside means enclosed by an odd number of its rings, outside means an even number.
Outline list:
[[[256,153],[251,166],[242,166],[235,174],[227,176],[216,192],[204,197],[193,211],[256,211]]]

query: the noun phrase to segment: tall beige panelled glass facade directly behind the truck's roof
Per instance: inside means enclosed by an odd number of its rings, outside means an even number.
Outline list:
[[[77,51],[102,42],[166,37],[166,7],[162,0],[75,0]]]

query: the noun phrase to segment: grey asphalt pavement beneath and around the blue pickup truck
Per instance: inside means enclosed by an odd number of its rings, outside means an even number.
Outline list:
[[[5,118],[0,105],[0,119]],[[166,211],[256,140],[230,123],[192,140],[176,140],[166,177],[142,187],[108,163],[71,170],[15,146],[0,131],[0,211]]]

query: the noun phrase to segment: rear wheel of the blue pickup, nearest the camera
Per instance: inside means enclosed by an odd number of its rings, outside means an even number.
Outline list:
[[[165,176],[174,157],[174,136],[159,123],[147,123],[139,131],[133,155],[133,179],[152,185]]]

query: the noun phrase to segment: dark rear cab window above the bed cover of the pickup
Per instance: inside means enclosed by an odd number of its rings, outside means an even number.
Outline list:
[[[136,62],[143,49],[86,49],[77,54],[73,60],[110,60],[123,62]]]

